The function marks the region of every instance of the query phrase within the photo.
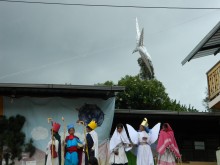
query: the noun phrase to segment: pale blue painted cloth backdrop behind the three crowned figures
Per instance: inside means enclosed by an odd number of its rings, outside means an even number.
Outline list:
[[[48,124],[48,118],[61,124],[59,133],[62,138],[64,125],[74,123],[76,134],[80,139],[84,137],[83,126],[78,125],[76,121],[80,119],[88,123],[91,119],[96,119],[99,126],[96,132],[99,136],[99,144],[101,144],[109,138],[114,106],[115,98],[102,100],[22,97],[12,101],[10,98],[4,97],[4,115],[20,114],[25,116],[26,123],[23,131],[26,134],[26,139],[32,138],[34,146],[43,152],[45,152],[50,138],[51,124]],[[65,123],[62,121],[62,117],[64,117]]]

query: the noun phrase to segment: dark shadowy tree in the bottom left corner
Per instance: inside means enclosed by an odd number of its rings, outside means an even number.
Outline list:
[[[9,160],[12,161],[11,164],[14,164],[16,158],[21,160],[21,154],[24,149],[30,152],[30,155],[33,155],[35,152],[35,147],[32,145],[33,141],[30,140],[29,143],[25,144],[25,134],[22,132],[22,127],[25,123],[24,116],[16,115],[15,117],[12,116],[8,119],[5,116],[2,116],[0,123],[1,164],[3,159],[5,159],[6,165],[8,165]]]

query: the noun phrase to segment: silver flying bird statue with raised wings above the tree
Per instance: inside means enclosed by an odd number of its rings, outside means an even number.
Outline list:
[[[141,55],[141,59],[145,63],[145,66],[149,72],[149,79],[154,78],[154,68],[151,62],[151,56],[147,52],[146,47],[144,46],[144,28],[142,28],[141,33],[139,30],[138,20],[136,18],[136,30],[137,30],[137,37],[136,37],[136,48],[134,49],[133,53],[139,52]]]

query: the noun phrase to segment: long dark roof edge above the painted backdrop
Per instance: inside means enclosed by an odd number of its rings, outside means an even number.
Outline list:
[[[0,96],[92,97],[108,99],[124,86],[0,83]]]

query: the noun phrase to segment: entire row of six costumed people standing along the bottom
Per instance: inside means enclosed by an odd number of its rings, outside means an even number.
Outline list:
[[[97,124],[92,120],[86,126],[84,141],[75,136],[74,124],[67,126],[68,136],[61,142],[58,133],[60,124],[53,122],[51,129],[51,139],[48,142],[46,150],[46,165],[82,165],[82,155],[85,165],[98,165],[98,135],[95,132]],[[151,133],[145,118],[137,131],[137,142],[132,142],[131,137],[126,133],[123,124],[119,123],[110,139],[109,144],[109,164],[110,165],[128,165],[126,152],[132,148],[136,149],[136,165],[175,165],[176,160],[181,159],[181,155],[174,137],[174,132],[168,123],[162,125],[157,141],[157,161],[153,158],[151,150]],[[158,129],[159,131],[159,129]],[[62,144],[62,148],[61,148]],[[61,150],[63,149],[63,158]],[[61,162],[61,160],[64,160]]]

